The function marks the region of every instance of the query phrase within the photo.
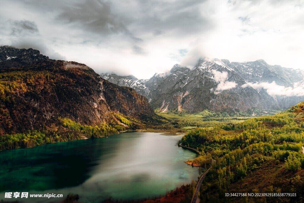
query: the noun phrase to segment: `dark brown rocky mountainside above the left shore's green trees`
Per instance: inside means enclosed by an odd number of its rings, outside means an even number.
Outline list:
[[[0,135],[54,127],[58,117],[95,126],[121,124],[115,114],[142,123],[155,115],[132,88],[112,84],[84,64],[39,57],[30,65],[0,70]]]

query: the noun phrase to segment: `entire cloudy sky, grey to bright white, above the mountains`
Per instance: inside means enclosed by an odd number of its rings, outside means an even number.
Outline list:
[[[304,69],[301,0],[0,1],[0,45],[150,78],[199,57]]]

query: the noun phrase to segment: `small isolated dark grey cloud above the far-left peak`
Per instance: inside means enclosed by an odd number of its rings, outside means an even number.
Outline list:
[[[39,30],[34,21],[29,20],[14,20],[10,21],[12,25],[11,35],[19,36],[20,34],[38,33]]]

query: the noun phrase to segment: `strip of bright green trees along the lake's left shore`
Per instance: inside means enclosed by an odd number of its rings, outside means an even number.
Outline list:
[[[34,147],[38,145],[79,140],[82,138],[102,137],[125,131],[126,127],[112,120],[109,124],[95,126],[81,125],[68,118],[58,118],[57,129],[44,128],[39,131],[28,130],[24,133],[5,134],[0,136],[0,150]]]

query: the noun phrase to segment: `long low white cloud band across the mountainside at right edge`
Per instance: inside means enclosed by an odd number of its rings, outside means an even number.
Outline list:
[[[266,89],[267,93],[271,96],[304,96],[304,83],[297,82],[293,87],[284,87],[277,85],[275,82],[259,82],[242,85],[243,88],[250,86],[254,89]]]

